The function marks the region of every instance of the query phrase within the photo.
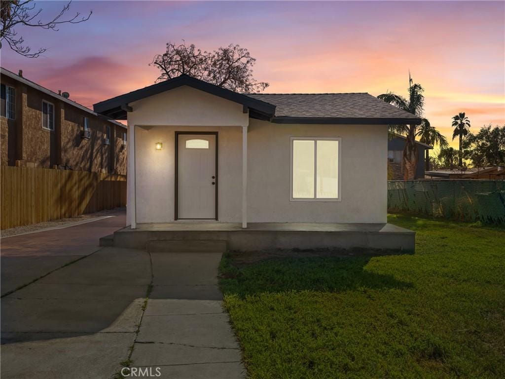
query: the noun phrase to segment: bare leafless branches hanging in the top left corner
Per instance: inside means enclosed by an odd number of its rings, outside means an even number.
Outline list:
[[[18,54],[28,58],[37,58],[40,54],[44,53],[46,49],[39,48],[36,52],[32,52],[31,48],[24,44],[24,38],[18,36],[17,29],[22,26],[31,26],[41,29],[58,30],[58,25],[60,24],[78,24],[87,21],[93,13],[89,11],[87,16],[81,16],[81,14],[77,12],[74,17],[66,19],[64,15],[70,10],[71,3],[71,1],[68,2],[61,9],[60,13],[51,20],[42,21],[39,19],[42,8],[36,9],[36,4],[33,0],[2,0],[2,8],[0,10],[2,34],[0,35],[0,41],[2,43],[6,41],[9,47]],[[2,48],[2,43],[0,43],[0,48]]]

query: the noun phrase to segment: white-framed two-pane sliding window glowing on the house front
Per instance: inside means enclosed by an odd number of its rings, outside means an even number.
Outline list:
[[[291,137],[290,201],[341,200],[340,137]]]

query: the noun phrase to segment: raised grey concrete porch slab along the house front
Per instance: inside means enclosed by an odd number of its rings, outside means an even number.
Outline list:
[[[227,250],[364,248],[384,250],[415,249],[412,230],[385,223],[241,223],[168,222],[139,223],[114,233],[116,247],[153,248],[158,251],[191,250],[203,243],[220,242]],[[149,245],[149,243],[151,243]],[[195,245],[196,244],[196,245]]]

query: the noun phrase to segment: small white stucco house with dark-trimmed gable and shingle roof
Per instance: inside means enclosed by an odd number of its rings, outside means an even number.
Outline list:
[[[127,120],[128,229],[151,232],[393,231],[387,125],[421,122],[368,93],[242,94],[186,75],[94,111]]]

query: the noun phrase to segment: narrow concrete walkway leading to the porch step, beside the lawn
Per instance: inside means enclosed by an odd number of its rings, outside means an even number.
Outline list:
[[[153,292],[134,344],[132,366],[160,368],[160,378],[245,376],[223,311],[221,253],[151,253]],[[189,300],[191,299],[191,300]]]

